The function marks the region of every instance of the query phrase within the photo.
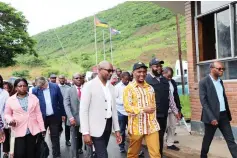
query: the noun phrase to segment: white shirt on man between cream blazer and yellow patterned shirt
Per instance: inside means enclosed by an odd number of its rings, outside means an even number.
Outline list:
[[[115,100],[116,100],[117,111],[120,112],[122,115],[128,116],[128,113],[125,111],[123,105],[123,91],[125,87],[126,85],[124,85],[122,81],[120,81],[115,86]]]

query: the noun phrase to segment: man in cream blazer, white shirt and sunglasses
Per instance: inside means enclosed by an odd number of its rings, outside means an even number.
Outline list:
[[[109,82],[113,66],[107,61],[98,65],[98,76],[87,82],[82,91],[80,104],[81,132],[87,145],[94,145],[97,158],[108,158],[107,146],[112,127],[117,143],[119,132],[114,87]]]

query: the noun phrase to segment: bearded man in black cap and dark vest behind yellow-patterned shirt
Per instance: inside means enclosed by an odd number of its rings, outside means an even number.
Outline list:
[[[176,115],[178,115],[178,110],[176,108],[174,98],[170,93],[169,82],[162,76],[162,64],[164,64],[164,61],[153,58],[149,63],[151,72],[146,76],[146,82],[150,84],[155,90],[157,108],[156,117],[160,125],[159,140],[161,156],[163,156],[164,134],[167,126],[167,116],[169,108],[171,108],[171,110]]]

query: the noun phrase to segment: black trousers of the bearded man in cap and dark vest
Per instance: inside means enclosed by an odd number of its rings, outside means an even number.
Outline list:
[[[159,130],[159,141],[160,141],[160,154],[163,156],[163,146],[164,146],[164,135],[167,127],[167,117],[158,117],[157,121],[159,122],[160,125],[160,130]]]

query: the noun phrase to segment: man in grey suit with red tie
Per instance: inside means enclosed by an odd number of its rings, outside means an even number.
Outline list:
[[[79,132],[80,118],[79,108],[81,99],[81,89],[84,84],[84,75],[75,73],[72,77],[73,86],[66,92],[64,98],[64,108],[68,117],[68,124],[71,126],[72,135],[72,155],[78,158],[82,154],[82,134]]]

